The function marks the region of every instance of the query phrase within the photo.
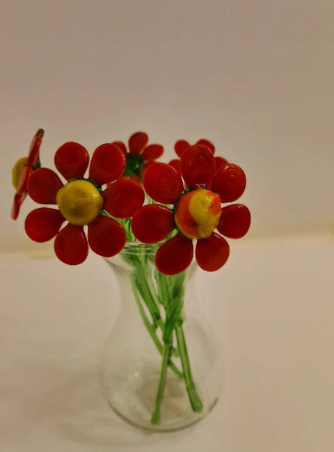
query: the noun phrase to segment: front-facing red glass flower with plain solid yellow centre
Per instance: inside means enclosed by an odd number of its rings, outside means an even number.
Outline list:
[[[28,236],[37,242],[56,237],[54,250],[65,264],[83,262],[90,249],[100,256],[116,255],[125,245],[125,231],[116,218],[132,216],[143,205],[141,185],[130,179],[118,179],[125,169],[125,155],[113,144],[97,147],[90,161],[89,154],[78,143],[59,147],[54,163],[67,180],[63,184],[56,172],[48,168],[35,170],[28,181],[31,198],[40,204],[58,204],[58,209],[42,207],[26,217]],[[103,191],[102,186],[111,181]],[[67,220],[67,225],[61,229]],[[84,226],[88,225],[88,239]]]

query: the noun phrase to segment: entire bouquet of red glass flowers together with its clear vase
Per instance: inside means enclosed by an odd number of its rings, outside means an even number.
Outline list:
[[[145,428],[196,422],[216,403],[221,366],[189,280],[197,266],[211,272],[225,264],[230,247],[223,236],[248,231],[248,208],[230,204],[244,193],[244,171],[215,156],[204,139],[177,141],[179,158],[160,163],[164,148],[137,132],[128,149],[106,143],[91,159],[84,146],[65,143],[54,156],[62,180],[40,165],[43,134],[13,168],[12,217],[26,195],[54,204],[26,216],[26,234],[36,242],[54,239],[65,264],[81,264],[90,248],[113,268],[122,303],[104,349],[107,401]]]

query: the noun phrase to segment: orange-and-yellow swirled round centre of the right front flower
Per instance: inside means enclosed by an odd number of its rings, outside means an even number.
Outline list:
[[[219,195],[198,188],[180,198],[175,211],[175,223],[189,239],[205,239],[216,229],[220,216]]]

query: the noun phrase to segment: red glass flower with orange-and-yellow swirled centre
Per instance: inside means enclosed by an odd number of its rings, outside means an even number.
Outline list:
[[[180,170],[186,189],[182,177],[166,163],[152,163],[145,170],[143,186],[148,195],[161,204],[173,205],[141,207],[132,218],[132,232],[143,243],[157,243],[177,229],[177,234],[157,250],[155,264],[161,273],[175,275],[191,264],[193,240],[198,265],[216,271],[230,254],[221,234],[239,239],[250,226],[250,212],[243,204],[221,207],[222,202],[233,202],[244,193],[244,171],[233,163],[217,170],[212,150],[203,144],[183,150]]]

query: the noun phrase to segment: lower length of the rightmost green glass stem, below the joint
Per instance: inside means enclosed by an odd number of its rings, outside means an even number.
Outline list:
[[[184,382],[186,383],[186,392],[188,392],[189,401],[194,412],[201,412],[203,405],[198,392],[196,390],[195,383],[193,382],[193,377],[191,376],[191,369],[189,363],[188,350],[186,348],[186,340],[184,338],[184,331],[182,326],[182,321],[176,323],[175,326],[177,345],[179,347],[179,353],[182,362]]]

